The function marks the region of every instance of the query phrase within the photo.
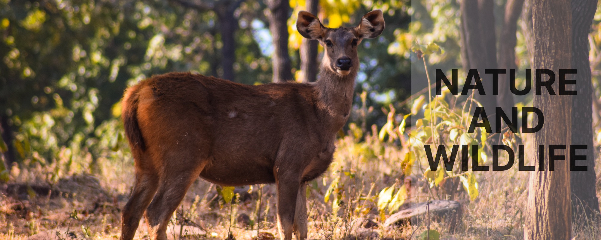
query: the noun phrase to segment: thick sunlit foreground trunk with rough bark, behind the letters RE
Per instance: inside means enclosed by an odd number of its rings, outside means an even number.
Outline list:
[[[550,69],[559,73],[569,69],[572,59],[572,12],[569,0],[534,0],[532,2],[534,31],[534,68]],[[553,86],[558,92],[558,85]],[[545,161],[545,170],[531,173],[528,185],[528,205],[524,239],[571,239],[572,208],[570,208],[570,172],[568,160],[557,160],[555,170],[549,170],[549,145],[566,145],[571,142],[572,96],[534,96],[534,107],[545,113],[545,126],[534,133],[531,159]],[[545,146],[545,152],[538,151]],[[567,150],[557,155],[569,155]],[[540,158],[539,158],[540,157]]]

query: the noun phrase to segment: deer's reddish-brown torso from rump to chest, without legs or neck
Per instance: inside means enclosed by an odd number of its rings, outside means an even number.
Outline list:
[[[275,182],[281,145],[290,144],[291,137],[301,145],[313,143],[299,146],[307,149],[305,158],[329,164],[333,144],[326,143],[331,141],[320,136],[319,124],[311,120],[318,114],[311,103],[313,89],[293,85],[249,86],[190,73],[142,81],[126,92],[123,110],[130,145],[137,148],[132,151],[136,165],[165,169],[204,164],[200,176],[221,185]],[[311,179],[327,168],[310,165],[304,172]]]

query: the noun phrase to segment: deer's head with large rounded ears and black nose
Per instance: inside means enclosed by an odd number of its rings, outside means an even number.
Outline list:
[[[334,73],[346,76],[359,69],[357,45],[364,38],[375,38],[384,29],[382,11],[365,14],[354,28],[326,28],[319,19],[307,11],[300,11],[296,29],[305,38],[319,40],[325,49],[322,64]]]

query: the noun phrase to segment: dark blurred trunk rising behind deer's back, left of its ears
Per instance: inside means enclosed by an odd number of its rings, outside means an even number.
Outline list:
[[[288,54],[288,25],[290,2],[286,0],[267,0],[269,8],[269,31],[273,37],[273,82],[293,80],[290,54]]]

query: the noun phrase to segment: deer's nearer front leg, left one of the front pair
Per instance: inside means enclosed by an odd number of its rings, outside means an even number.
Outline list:
[[[293,173],[279,173],[276,177],[278,188],[278,230],[281,240],[292,239],[296,197],[300,184],[300,178],[293,176]]]

